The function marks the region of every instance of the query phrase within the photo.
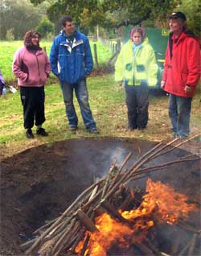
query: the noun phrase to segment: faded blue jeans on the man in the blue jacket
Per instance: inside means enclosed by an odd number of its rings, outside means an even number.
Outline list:
[[[76,109],[73,104],[73,90],[75,89],[76,98],[80,105],[80,112],[81,112],[85,127],[87,129],[92,129],[96,127],[96,123],[92,118],[92,111],[88,104],[88,89],[87,89],[86,81],[82,80],[73,85],[62,81],[60,83],[60,87],[64,97],[64,103],[66,106],[66,114],[68,117],[69,126],[78,125]]]

